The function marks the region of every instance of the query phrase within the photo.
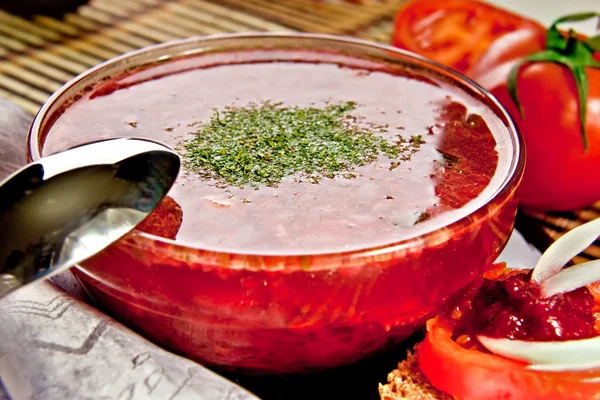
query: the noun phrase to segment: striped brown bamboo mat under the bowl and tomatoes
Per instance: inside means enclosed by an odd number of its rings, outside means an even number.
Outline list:
[[[404,0],[91,0],[61,19],[24,19],[0,10],[0,96],[34,114],[50,94],[119,54],[172,39],[223,32],[307,31],[387,43]],[[543,249],[600,216],[520,213],[519,230]],[[600,243],[573,261],[600,257]]]

